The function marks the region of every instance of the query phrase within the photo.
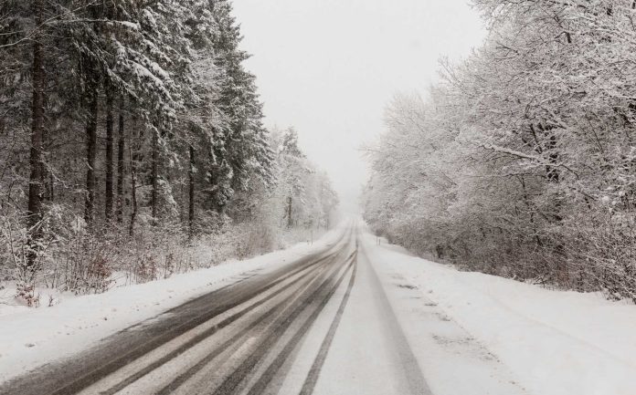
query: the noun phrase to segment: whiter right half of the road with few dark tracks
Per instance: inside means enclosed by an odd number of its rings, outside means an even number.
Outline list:
[[[364,246],[358,245],[357,252],[353,286],[338,290],[299,350],[287,386],[278,393],[311,393],[294,383],[302,383],[314,369],[320,373],[312,383],[316,394],[432,394],[384,287],[364,257]],[[341,301],[346,302],[344,309]],[[325,355],[316,367],[314,356],[320,351]]]

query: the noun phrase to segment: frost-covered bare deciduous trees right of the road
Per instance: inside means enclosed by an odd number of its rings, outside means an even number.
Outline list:
[[[366,220],[420,254],[636,300],[636,2],[472,3],[482,46],[387,107]]]

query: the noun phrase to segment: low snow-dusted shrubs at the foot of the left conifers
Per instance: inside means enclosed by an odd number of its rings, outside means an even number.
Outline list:
[[[0,309],[0,315],[12,307],[51,307],[72,296],[169,278],[300,242],[311,244],[313,237],[323,233],[322,229],[271,230],[238,224],[191,242],[186,242],[183,234],[161,228],[139,235],[132,242],[76,235],[69,238],[69,243],[51,248],[28,283],[17,281],[16,275],[0,273],[0,306],[5,307]]]

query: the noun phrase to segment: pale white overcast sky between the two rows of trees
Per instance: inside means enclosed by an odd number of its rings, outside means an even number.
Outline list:
[[[384,130],[387,102],[424,92],[440,57],[466,57],[485,36],[467,0],[234,0],[234,8],[265,123],[298,130],[345,211],[368,176],[359,149]]]

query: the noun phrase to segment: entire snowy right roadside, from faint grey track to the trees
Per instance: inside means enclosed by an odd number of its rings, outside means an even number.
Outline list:
[[[532,394],[634,393],[632,305],[460,272],[365,240],[436,395],[524,393],[498,382]]]

